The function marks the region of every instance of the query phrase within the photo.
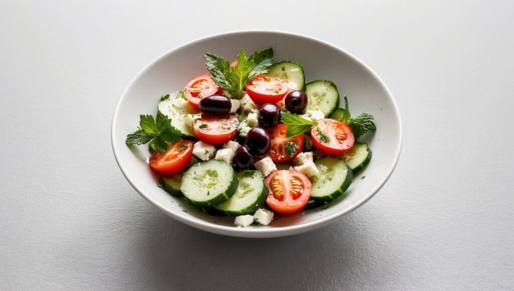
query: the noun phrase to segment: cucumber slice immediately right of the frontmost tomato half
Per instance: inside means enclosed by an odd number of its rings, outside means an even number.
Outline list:
[[[314,162],[318,176],[311,178],[313,192],[310,198],[331,201],[341,196],[352,183],[353,172],[346,163],[335,157],[323,157]]]

